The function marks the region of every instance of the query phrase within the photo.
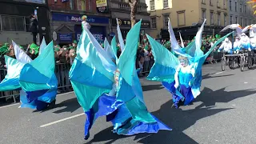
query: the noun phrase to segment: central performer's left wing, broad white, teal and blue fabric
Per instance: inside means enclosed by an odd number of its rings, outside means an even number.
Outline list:
[[[101,49],[90,31],[83,30],[77,57],[70,69],[70,81],[78,102],[85,111],[90,110],[103,93],[109,92],[114,83],[114,62]]]

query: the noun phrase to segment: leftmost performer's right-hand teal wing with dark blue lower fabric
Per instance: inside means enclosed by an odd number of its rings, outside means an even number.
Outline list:
[[[58,80],[54,74],[54,45],[50,42],[38,58],[23,66],[19,83],[26,92],[27,102],[43,110],[57,95]]]

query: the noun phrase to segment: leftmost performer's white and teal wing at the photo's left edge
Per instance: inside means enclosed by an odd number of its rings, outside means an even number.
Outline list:
[[[25,63],[18,62],[18,60],[10,58],[6,55],[5,61],[7,67],[7,74],[6,77],[0,83],[0,90],[7,91],[21,88],[18,79],[20,77],[20,73]]]

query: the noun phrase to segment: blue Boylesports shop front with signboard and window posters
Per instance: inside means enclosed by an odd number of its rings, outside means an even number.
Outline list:
[[[104,42],[106,33],[109,32],[109,18],[94,15],[86,15],[87,22],[90,23],[90,32],[98,42]],[[58,36],[54,42],[60,45],[68,44],[74,40],[79,41],[82,34],[82,14],[52,14],[52,33]]]

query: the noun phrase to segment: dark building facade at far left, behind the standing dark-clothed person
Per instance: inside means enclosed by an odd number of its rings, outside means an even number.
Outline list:
[[[14,40],[19,45],[33,42],[30,33],[30,15],[37,10],[39,38],[50,41],[48,6],[45,0],[1,0],[0,1],[0,42]]]

